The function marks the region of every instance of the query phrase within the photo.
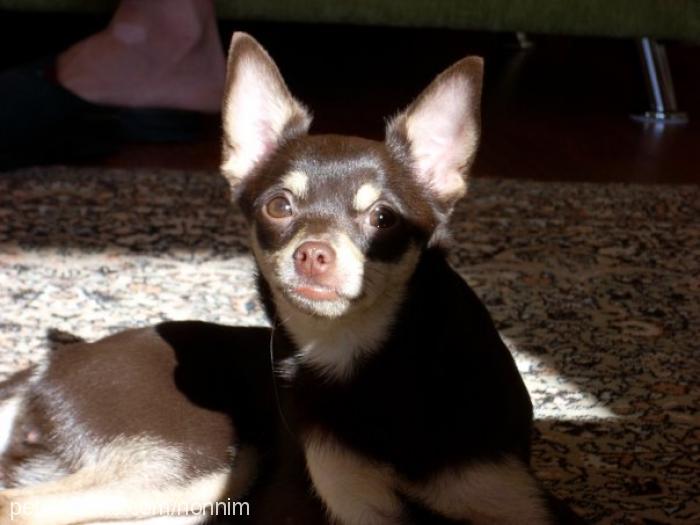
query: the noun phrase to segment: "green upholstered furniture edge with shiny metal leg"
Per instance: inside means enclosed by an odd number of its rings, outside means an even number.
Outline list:
[[[144,0],[147,1],[147,0]],[[222,18],[445,27],[637,38],[651,111],[682,122],[666,52],[656,39],[700,41],[700,0],[215,0]],[[115,0],[0,0],[0,9],[110,11]]]

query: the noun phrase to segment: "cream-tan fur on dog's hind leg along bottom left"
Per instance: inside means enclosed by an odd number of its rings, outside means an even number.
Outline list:
[[[98,457],[56,481],[0,492],[0,525],[200,523],[206,516],[196,515],[197,509],[242,495],[254,471],[254,458],[246,452],[233,471],[185,479],[177,449],[152,440],[119,440]],[[168,509],[175,514],[180,509],[179,515],[165,515]]]

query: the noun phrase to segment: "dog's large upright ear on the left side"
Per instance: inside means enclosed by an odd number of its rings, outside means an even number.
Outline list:
[[[235,187],[284,140],[306,133],[311,116],[250,35],[234,33],[227,69],[221,171]]]

